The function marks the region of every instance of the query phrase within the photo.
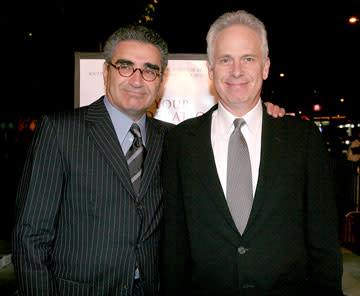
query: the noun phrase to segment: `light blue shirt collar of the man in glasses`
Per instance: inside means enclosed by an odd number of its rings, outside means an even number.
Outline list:
[[[120,143],[123,143],[126,134],[129,132],[129,129],[133,123],[136,123],[140,127],[141,137],[143,143],[146,143],[146,114],[141,116],[141,118],[134,122],[131,118],[122,113],[119,109],[115,108],[110,102],[107,96],[105,95],[104,103],[107,111],[109,112],[111,121],[115,127],[116,134]]]

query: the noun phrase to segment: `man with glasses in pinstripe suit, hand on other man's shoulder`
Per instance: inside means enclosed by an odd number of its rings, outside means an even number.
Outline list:
[[[13,232],[21,295],[158,294],[160,156],[171,125],[145,114],[159,93],[167,51],[149,29],[119,29],[104,48],[106,96],[41,119]],[[147,151],[138,194],[125,159],[133,123]]]

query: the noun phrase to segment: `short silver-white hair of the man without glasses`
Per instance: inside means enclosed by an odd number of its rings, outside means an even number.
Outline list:
[[[207,41],[207,55],[210,65],[212,65],[214,58],[214,42],[216,36],[224,29],[232,25],[244,25],[253,29],[260,37],[261,50],[263,53],[263,61],[265,63],[269,54],[269,46],[267,41],[267,33],[265,26],[253,14],[246,12],[245,10],[238,10],[235,12],[227,12],[221,15],[211,26],[206,36]]]

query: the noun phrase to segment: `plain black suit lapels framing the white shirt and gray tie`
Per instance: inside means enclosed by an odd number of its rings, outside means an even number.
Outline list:
[[[198,127],[190,132],[192,137],[189,140],[189,157],[197,159],[198,165],[195,166],[200,182],[204,190],[208,192],[207,196],[214,203],[216,209],[224,217],[228,225],[238,232],[235,223],[231,217],[220,180],[217,175],[217,169],[214,154],[211,146],[211,119],[212,112],[217,108],[214,106],[202,118]],[[244,235],[251,233],[251,227],[256,223],[256,217],[264,210],[264,203],[271,203],[269,200],[274,184],[274,176],[279,176],[279,170],[282,163],[282,157],[286,152],[286,143],[282,137],[282,120],[270,117],[266,110],[263,112],[262,139],[261,139],[261,158],[259,168],[259,179],[256,187],[253,208],[249,217],[249,222]],[[276,153],[274,153],[274,151]],[[265,205],[266,207],[266,205]]]

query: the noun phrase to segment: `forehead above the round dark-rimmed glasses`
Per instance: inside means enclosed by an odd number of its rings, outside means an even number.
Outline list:
[[[113,62],[124,59],[134,64],[143,65],[150,63],[161,65],[161,53],[157,47],[151,43],[135,40],[120,41],[113,53]]]

